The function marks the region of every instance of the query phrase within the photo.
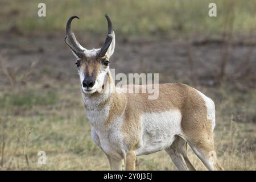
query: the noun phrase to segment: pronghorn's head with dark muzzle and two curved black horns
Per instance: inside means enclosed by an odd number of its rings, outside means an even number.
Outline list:
[[[65,43],[71,48],[76,57],[76,67],[79,72],[82,92],[92,94],[97,90],[104,89],[104,81],[109,71],[109,59],[115,48],[115,34],[112,30],[112,22],[105,14],[108,22],[108,34],[101,48],[86,49],[76,40],[75,34],[71,31],[71,22],[78,16],[71,16],[66,27]]]

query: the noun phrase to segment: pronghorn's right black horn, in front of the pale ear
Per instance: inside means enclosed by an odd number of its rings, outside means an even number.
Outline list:
[[[106,40],[105,40],[103,46],[100,49],[100,52],[99,52],[100,57],[105,56],[106,52],[108,51],[108,48],[109,48],[110,44],[112,43],[112,39],[113,39],[113,37],[112,37],[112,32],[113,32],[112,22],[111,22],[108,14],[105,14],[105,17],[106,17],[106,20],[108,22],[108,35],[106,36]]]

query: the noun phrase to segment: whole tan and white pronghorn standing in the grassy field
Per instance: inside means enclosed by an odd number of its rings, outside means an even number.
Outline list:
[[[135,169],[136,156],[165,150],[180,170],[195,169],[187,157],[187,143],[209,170],[222,169],[214,152],[214,102],[184,84],[159,84],[159,96],[148,100],[147,93],[117,93],[110,74],[109,59],[115,48],[112,22],[108,22],[105,43],[86,49],[67,22],[65,43],[76,57],[82,98],[91,123],[93,141],[109,160],[110,168]],[[144,85],[132,85],[143,88]]]

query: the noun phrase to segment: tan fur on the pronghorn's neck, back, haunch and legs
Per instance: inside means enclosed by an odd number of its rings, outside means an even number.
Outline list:
[[[108,76],[108,84],[113,84],[112,77]],[[143,85],[133,86],[139,86],[141,90]],[[99,93],[93,93],[88,97],[98,96]],[[184,139],[189,144],[199,148],[205,156],[208,156],[209,160],[213,160],[213,157],[216,158],[216,156],[209,155],[210,151],[214,151],[214,142],[212,122],[207,119],[207,107],[199,93],[188,85],[176,83],[159,84],[159,97],[157,100],[148,100],[148,93],[112,93],[107,100],[101,103],[100,107],[105,105],[110,105],[110,112],[104,123],[106,127],[110,126],[115,118],[124,114],[122,133],[129,151],[134,151],[138,148],[141,131],[139,121],[143,113],[160,113],[166,110],[178,109],[182,114],[181,127],[184,132]],[[188,168],[195,169],[189,162],[185,152],[182,154]],[[127,169],[135,168],[134,159],[133,152],[126,155]],[[222,169],[218,163],[214,164],[214,167]]]

